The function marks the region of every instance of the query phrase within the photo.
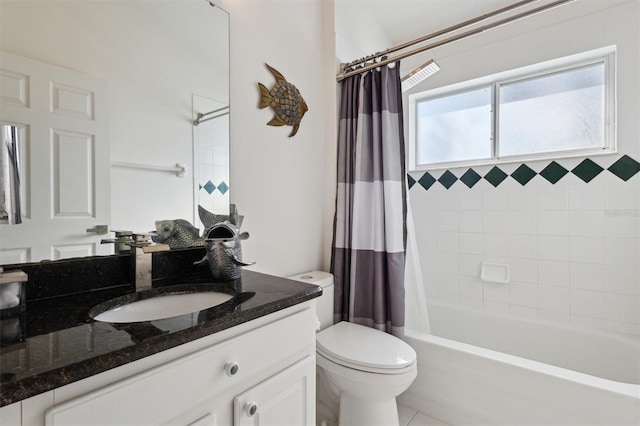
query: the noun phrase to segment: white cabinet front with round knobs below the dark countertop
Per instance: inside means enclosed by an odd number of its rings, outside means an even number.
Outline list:
[[[314,319],[311,303],[296,305],[225,330],[224,340],[208,347],[106,385],[91,377],[55,389],[56,404],[46,410],[44,424],[311,426]],[[181,345],[180,350],[201,346],[214,336]],[[118,370],[131,364],[99,376],[122,376]]]

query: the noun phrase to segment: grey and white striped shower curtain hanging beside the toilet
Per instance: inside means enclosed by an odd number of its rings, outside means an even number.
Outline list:
[[[400,64],[342,82],[331,272],[335,321],[404,334],[406,197]]]

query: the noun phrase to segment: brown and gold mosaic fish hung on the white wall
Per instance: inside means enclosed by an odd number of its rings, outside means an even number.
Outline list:
[[[275,115],[267,123],[269,126],[293,126],[293,130],[289,134],[289,137],[294,136],[298,132],[300,127],[300,121],[304,116],[304,113],[309,110],[300,91],[291,83],[288,83],[285,78],[275,68],[265,64],[271,74],[276,79],[276,84],[267,89],[263,84],[258,83],[260,89],[260,109],[270,106],[273,108]]]

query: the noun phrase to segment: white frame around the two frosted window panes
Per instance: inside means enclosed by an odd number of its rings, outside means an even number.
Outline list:
[[[531,154],[499,156],[499,105],[501,85],[526,81],[545,75],[553,75],[564,71],[602,63],[604,65],[604,111],[603,138],[604,146],[581,147],[562,151],[545,151]],[[436,99],[474,90],[480,87],[491,87],[491,158],[478,160],[448,161],[439,163],[418,164],[417,133],[417,105],[424,99]],[[616,46],[608,46],[588,52],[570,55],[550,61],[541,62],[513,70],[492,74],[473,80],[455,83],[439,88],[426,90],[409,95],[409,171],[436,170],[477,165],[496,165],[504,163],[557,160],[562,158],[583,157],[585,155],[603,155],[617,152],[617,111],[616,111]],[[496,112],[497,111],[497,112]]]

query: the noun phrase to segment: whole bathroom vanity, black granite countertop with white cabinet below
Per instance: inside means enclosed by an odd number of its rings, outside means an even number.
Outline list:
[[[128,324],[87,316],[114,288],[28,304],[26,339],[0,352],[0,422],[314,424],[321,289],[252,271],[235,285],[235,305]]]

